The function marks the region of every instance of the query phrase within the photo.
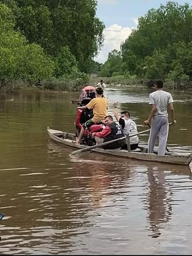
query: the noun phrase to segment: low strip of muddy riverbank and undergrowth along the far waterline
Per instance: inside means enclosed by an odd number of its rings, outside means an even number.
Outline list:
[[[49,78],[43,81],[39,81],[36,84],[29,84],[27,81],[9,81],[4,84],[0,84],[0,91],[18,91],[19,89],[32,90],[41,89],[41,90],[50,90],[50,91],[68,91],[75,92],[81,91],[86,85],[92,85],[96,87],[97,83],[100,80],[103,80],[107,85],[107,88],[141,88],[147,89],[154,87],[154,80],[146,81],[136,77],[124,78],[122,75],[116,77],[97,77],[96,75],[90,76],[89,79],[58,79],[58,78]],[[165,81],[164,88],[167,89],[178,89],[182,91],[191,91],[192,87],[187,87],[186,85],[176,86],[173,81]]]

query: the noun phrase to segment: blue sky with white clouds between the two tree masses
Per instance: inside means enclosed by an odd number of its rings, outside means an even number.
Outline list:
[[[174,2],[192,6],[192,0]],[[94,60],[104,63],[109,52],[113,49],[120,50],[120,44],[128,38],[133,28],[137,28],[138,18],[147,14],[150,9],[157,9],[166,3],[166,0],[97,0],[96,16],[105,24],[105,41]]]

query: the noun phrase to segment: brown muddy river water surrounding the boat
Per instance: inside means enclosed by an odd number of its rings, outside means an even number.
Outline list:
[[[167,90],[168,91],[168,90]],[[144,89],[110,90],[138,125],[150,113]],[[168,148],[192,151],[190,92],[170,91],[177,125]],[[0,253],[191,254],[192,166],[136,161],[49,141],[46,127],[75,131],[77,93],[0,95]],[[140,135],[147,144],[149,134]]]

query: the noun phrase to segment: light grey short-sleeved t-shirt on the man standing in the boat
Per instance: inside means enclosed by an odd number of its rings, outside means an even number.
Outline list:
[[[157,90],[155,92],[151,92],[149,95],[149,105],[156,105],[156,113],[154,117],[168,117],[167,113],[167,105],[173,103],[173,98],[169,92],[165,92],[163,90]]]

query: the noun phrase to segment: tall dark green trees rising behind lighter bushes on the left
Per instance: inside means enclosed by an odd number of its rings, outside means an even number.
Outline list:
[[[4,0],[16,15],[16,28],[53,57],[69,47],[80,71],[88,72],[103,44],[105,25],[96,18],[96,0]]]

